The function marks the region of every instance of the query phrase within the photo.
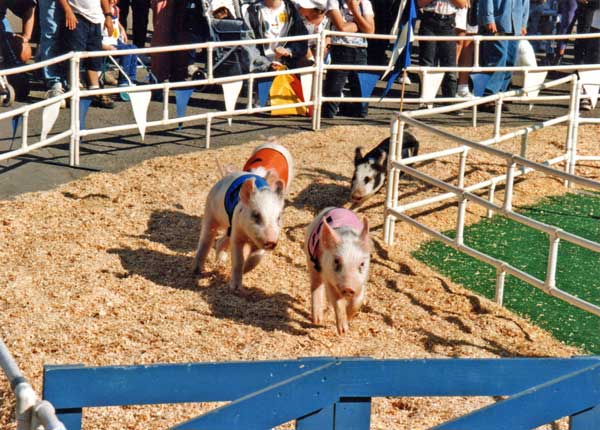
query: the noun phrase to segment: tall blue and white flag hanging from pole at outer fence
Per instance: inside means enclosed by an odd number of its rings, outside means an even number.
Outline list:
[[[392,34],[396,35],[392,56],[387,70],[382,76],[382,79],[384,79],[389,74],[382,98],[387,95],[400,73],[410,66],[411,44],[414,39],[416,20],[417,8],[415,7],[415,0],[402,0],[398,9],[396,22],[392,28]]]

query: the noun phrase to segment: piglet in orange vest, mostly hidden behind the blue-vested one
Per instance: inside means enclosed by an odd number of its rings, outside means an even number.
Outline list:
[[[287,191],[294,178],[294,159],[285,146],[270,139],[254,149],[243,170],[263,178],[274,175],[283,181]]]

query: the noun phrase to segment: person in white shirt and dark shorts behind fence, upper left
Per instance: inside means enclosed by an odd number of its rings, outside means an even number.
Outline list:
[[[109,34],[114,34],[112,13],[108,0],[59,0],[65,13],[65,44],[69,51],[100,51],[102,50],[102,23],[106,24]],[[106,13],[103,13],[103,9]],[[106,20],[105,20],[106,15]],[[102,70],[102,58],[86,58],[83,61],[86,70],[88,89],[100,88],[98,72]],[[106,95],[95,96],[93,104],[98,107],[112,109],[114,103]]]

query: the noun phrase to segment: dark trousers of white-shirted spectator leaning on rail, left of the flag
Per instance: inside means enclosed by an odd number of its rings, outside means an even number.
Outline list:
[[[332,64],[367,64],[367,48],[354,48],[351,46],[333,45],[329,50]],[[358,74],[351,70],[328,70],[323,84],[323,95],[325,97],[340,97],[342,90],[348,80],[350,94],[352,97],[360,97],[360,82]],[[333,118],[338,113],[339,103],[323,103],[322,115],[324,118]],[[367,116],[366,103],[344,103],[340,111],[349,116]]]

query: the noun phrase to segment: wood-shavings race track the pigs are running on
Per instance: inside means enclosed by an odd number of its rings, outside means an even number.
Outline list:
[[[453,130],[467,138],[491,129]],[[582,127],[579,151],[597,150],[600,127]],[[398,223],[396,244],[382,240],[381,192],[358,212],[369,217],[373,254],[369,303],[339,337],[333,310],[323,327],[310,322],[304,229],[326,206],[348,207],[356,145],[371,148],[386,127],[334,127],[280,139],[292,152],[297,178],[284,212],[277,248],[244,278],[249,297],[227,288],[228,266],[211,254],[210,274],[191,264],[206,195],[219,173],[215,159],[242,166],[258,142],[156,158],[119,174],[93,174],[54,191],[0,202],[0,336],[34,388],[44,364],[116,365],[265,360],[308,356],[566,357],[561,344],[525,319],[453,284],[410,253],[427,238]],[[530,136],[528,156],[561,153],[566,129]],[[415,131],[421,152],[450,144]],[[519,151],[519,141],[502,149]],[[562,151],[564,152],[564,151]],[[600,164],[578,173],[600,179]],[[423,171],[454,178],[458,157],[425,163]],[[505,163],[471,151],[467,183],[502,173]],[[401,201],[430,195],[401,181]],[[561,181],[531,174],[515,187],[515,203],[563,193]],[[502,192],[497,192],[501,201]],[[455,204],[411,212],[439,230],[454,227]],[[473,204],[468,222],[484,214]],[[374,429],[423,429],[489,404],[491,398],[375,399]],[[166,428],[214,407],[209,404],[101,408],[84,412],[88,429]],[[0,377],[0,428],[14,429],[13,395]]]

